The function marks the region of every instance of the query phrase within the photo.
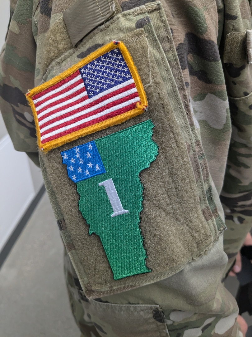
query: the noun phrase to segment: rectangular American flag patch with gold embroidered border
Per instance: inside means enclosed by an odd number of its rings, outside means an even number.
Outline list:
[[[45,152],[143,113],[147,99],[123,42],[111,42],[30,90],[39,148]]]

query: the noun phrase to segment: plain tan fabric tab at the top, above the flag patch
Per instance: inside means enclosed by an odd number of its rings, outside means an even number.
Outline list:
[[[77,0],[63,17],[73,46],[91,30],[111,18],[116,12],[113,0]]]

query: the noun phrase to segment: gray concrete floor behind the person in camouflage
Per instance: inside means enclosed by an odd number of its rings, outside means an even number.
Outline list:
[[[225,285],[235,296],[236,278],[229,277]],[[0,299],[0,337],[80,336],[68,303],[63,245],[47,194],[0,269]],[[252,317],[244,318],[252,325]]]

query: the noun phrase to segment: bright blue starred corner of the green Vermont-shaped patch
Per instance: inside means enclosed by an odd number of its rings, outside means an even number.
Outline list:
[[[61,155],[68,176],[75,183],[106,173],[94,141],[63,151]]]

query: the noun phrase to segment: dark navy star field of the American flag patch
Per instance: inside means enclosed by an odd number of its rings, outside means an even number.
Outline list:
[[[98,57],[79,70],[89,98],[132,79],[119,48]]]

